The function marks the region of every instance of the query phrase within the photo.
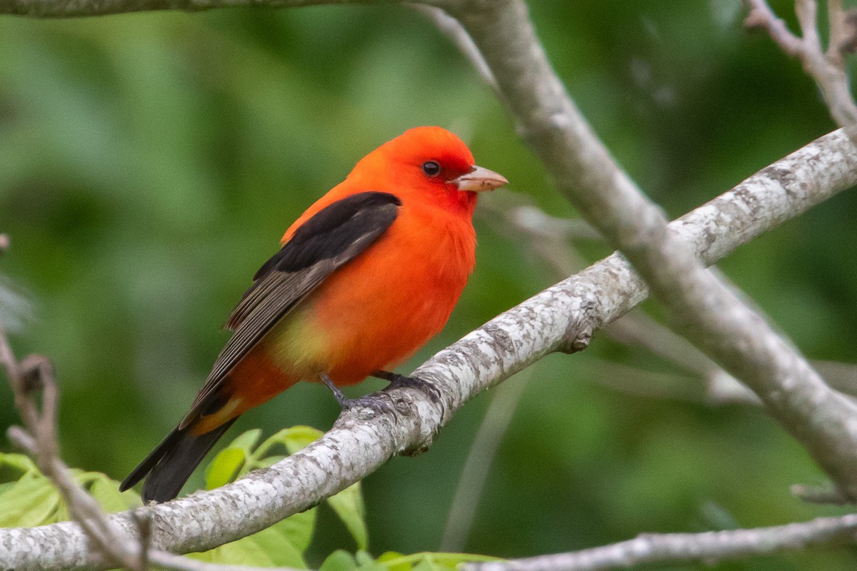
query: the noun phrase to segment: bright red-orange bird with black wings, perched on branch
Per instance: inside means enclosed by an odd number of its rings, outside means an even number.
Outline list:
[[[241,413],[302,379],[344,406],[336,385],[419,384],[388,371],[446,324],[476,261],[476,194],[506,182],[439,127],[366,155],[286,230],[232,310],[234,333],[190,412],[120,490],[146,477],[144,502],[176,497]]]

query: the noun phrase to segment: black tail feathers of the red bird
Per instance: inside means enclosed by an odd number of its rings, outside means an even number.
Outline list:
[[[194,434],[193,424],[176,428],[159,443],[152,454],[140,462],[140,466],[129,473],[128,478],[119,485],[119,491],[128,490],[146,478],[143,484],[143,503],[151,500],[167,502],[177,497],[208,450],[212,449],[214,443],[236,420],[237,417],[228,420],[204,434]]]

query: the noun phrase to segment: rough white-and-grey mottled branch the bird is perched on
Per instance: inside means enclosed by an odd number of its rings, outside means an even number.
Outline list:
[[[800,172],[801,176],[788,176]],[[803,176],[815,181],[803,183]],[[671,224],[710,264],[812,205],[857,184],[857,148],[842,130],[760,171]],[[619,255],[591,265],[440,351],[414,374],[441,391],[388,393],[394,413],[354,409],[306,449],[223,488],[150,508],[156,550],[207,550],[307,509],[363,479],[391,456],[424,449],[465,401],[555,350],[585,347],[593,331],[644,300],[647,290]],[[134,536],[131,514],[113,521]],[[94,568],[72,522],[0,529],[0,568]],[[103,565],[101,565],[103,568]]]

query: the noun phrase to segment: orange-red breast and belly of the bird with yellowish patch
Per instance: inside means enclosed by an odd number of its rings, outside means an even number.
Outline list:
[[[305,378],[353,384],[407,359],[446,324],[475,263],[470,217],[403,205],[384,235],[272,333]]]

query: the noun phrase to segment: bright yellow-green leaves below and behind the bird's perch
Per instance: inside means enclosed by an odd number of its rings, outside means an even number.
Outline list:
[[[292,426],[268,437],[257,446],[261,430],[244,432],[208,465],[207,485],[209,489],[218,487],[250,470],[268,467],[283,458],[282,455],[268,455],[272,450],[282,448],[291,455],[322,434],[309,426]],[[75,469],[72,473],[75,480],[109,513],[141,505],[140,496],[135,491],[120,492],[118,482],[103,473]],[[327,503],[351,532],[357,543],[357,553],[352,556],[345,550],[334,551],[321,565],[323,571],[454,571],[460,562],[493,559],[458,553],[403,556],[393,552],[374,559],[367,551],[369,532],[360,483],[327,498]],[[304,552],[309,548],[315,532],[317,510],[314,507],[301,514],[294,514],[261,532],[213,550],[191,553],[189,557],[224,565],[308,568]],[[0,527],[42,526],[69,519],[63,498],[32,460],[20,454],[0,454]]]

